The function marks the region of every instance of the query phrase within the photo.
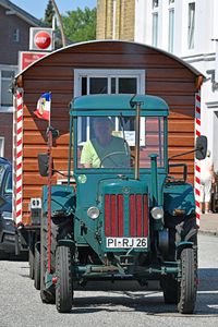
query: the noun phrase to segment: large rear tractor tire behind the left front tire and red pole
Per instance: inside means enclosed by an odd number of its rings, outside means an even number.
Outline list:
[[[40,298],[44,303],[56,303],[56,289],[51,286],[49,289],[46,288],[45,277],[48,270],[48,218],[46,215],[41,219],[40,229]],[[53,249],[57,246],[56,229],[51,225],[51,272],[55,271],[55,252]]]

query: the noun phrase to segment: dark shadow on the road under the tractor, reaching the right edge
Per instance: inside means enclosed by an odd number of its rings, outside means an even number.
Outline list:
[[[112,286],[104,286],[105,295],[102,295],[102,288],[100,284],[93,284],[88,287],[90,296],[88,294],[83,298],[83,291],[76,298],[76,290],[74,292],[74,307],[72,313],[84,314],[95,313],[98,311],[107,312],[144,312],[147,315],[160,316],[177,316],[177,317],[218,317],[218,269],[204,268],[198,269],[199,284],[197,291],[197,301],[195,312],[193,315],[181,315],[177,311],[177,305],[169,305],[164,303],[164,296],[159,286],[156,283],[156,290],[149,288],[142,289],[140,286],[134,286],[129,282],[131,287],[136,289],[132,291],[123,290],[122,282]],[[154,284],[153,284],[154,286]],[[128,284],[124,286],[128,288]],[[77,288],[77,291],[81,288]],[[84,292],[87,291],[87,288]],[[100,296],[97,294],[101,291]],[[93,293],[94,292],[94,293]],[[95,296],[96,293],[96,296]],[[84,293],[85,294],[85,293]]]

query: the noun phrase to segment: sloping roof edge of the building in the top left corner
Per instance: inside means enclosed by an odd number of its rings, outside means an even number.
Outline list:
[[[34,27],[45,26],[45,24],[41,21],[32,16],[25,10],[21,9],[20,7],[15,5],[9,0],[0,0],[0,5],[8,9],[11,14],[13,13],[14,15],[21,17],[23,21],[25,21]]]

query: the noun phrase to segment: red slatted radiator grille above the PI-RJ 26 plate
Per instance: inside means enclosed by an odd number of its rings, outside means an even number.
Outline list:
[[[147,195],[130,194],[129,197],[123,197],[122,194],[106,194],[105,234],[111,238],[147,237]]]

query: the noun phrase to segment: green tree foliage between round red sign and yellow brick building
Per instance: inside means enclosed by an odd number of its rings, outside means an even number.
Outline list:
[[[62,20],[65,36],[72,43],[96,39],[96,8],[68,11]]]

